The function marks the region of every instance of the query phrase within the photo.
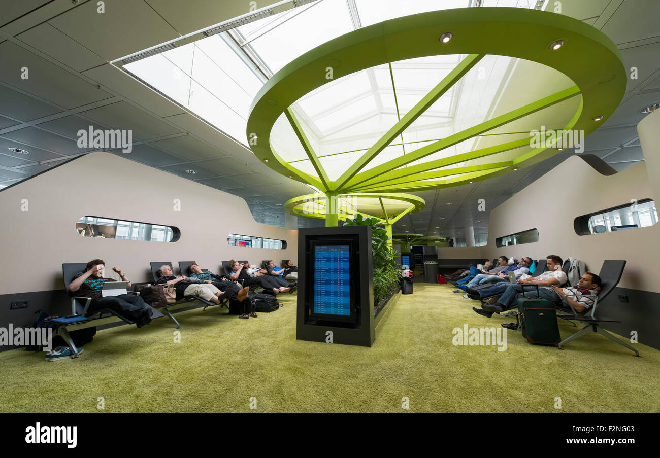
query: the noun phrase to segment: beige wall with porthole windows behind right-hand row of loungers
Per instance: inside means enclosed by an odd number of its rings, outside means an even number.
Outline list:
[[[543,258],[558,254],[583,260],[589,270],[599,272],[603,260],[627,260],[619,287],[660,292],[657,274],[660,254],[660,224],[629,231],[579,236],[573,221],[579,215],[630,202],[654,198],[647,163],[633,165],[606,177],[578,156],[572,156],[520,190],[490,213],[486,258],[505,254],[520,258]],[[537,243],[497,248],[495,239],[525,229],[537,228]]]

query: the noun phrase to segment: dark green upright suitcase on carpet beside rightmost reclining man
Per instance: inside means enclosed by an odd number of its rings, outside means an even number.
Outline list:
[[[523,293],[524,294],[524,293]],[[554,303],[545,299],[521,297],[518,303],[518,322],[523,337],[536,345],[558,345],[562,338],[557,324]]]

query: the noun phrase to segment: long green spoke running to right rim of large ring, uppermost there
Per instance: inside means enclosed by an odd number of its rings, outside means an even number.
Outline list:
[[[568,100],[572,97],[578,96],[579,94],[580,90],[578,86],[572,86],[571,88],[564,89],[560,92],[557,92],[556,94],[552,94],[552,96],[534,101],[524,105],[523,107],[509,111],[508,113],[504,113],[504,115],[500,115],[498,117],[494,117],[493,119],[489,119],[488,121],[484,121],[483,123],[480,123],[469,129],[461,130],[461,132],[450,135],[438,142],[422,146],[422,148],[418,148],[417,150],[414,150],[405,156],[396,157],[395,159],[391,159],[381,165],[377,165],[373,169],[369,169],[366,172],[355,175],[347,182],[343,182],[343,184],[345,184],[345,188],[351,188],[352,186],[364,183],[364,181],[367,181],[368,179],[372,179],[379,175],[384,175],[389,171],[402,167],[403,165],[418,161],[419,159],[422,159],[422,157],[426,157],[429,154],[433,154],[443,150],[444,148],[468,140],[469,138],[487,132],[488,130],[496,129],[497,127],[505,125],[506,123],[510,123],[511,121],[515,121],[516,119],[530,115],[531,113],[535,113],[544,108],[551,107],[552,105],[556,105],[556,103]],[[529,139],[527,141],[529,142]],[[477,157],[479,156],[471,157],[471,159],[476,159]],[[337,183],[340,182],[341,179]],[[337,188],[339,189],[339,186]]]

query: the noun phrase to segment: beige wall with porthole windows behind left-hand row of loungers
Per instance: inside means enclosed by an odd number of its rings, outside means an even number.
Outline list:
[[[22,200],[28,211],[21,211]],[[181,211],[174,211],[180,199]],[[102,258],[132,281],[150,281],[149,262],[196,260],[217,272],[222,260],[297,262],[298,231],[254,221],[245,200],[105,152],[79,157],[0,192],[0,294],[61,289],[61,264]],[[176,226],[176,243],[90,239],[75,231],[84,215]],[[237,248],[236,233],[285,240],[286,250]],[[20,273],[20,275],[18,274]],[[106,276],[112,272],[106,270]]]

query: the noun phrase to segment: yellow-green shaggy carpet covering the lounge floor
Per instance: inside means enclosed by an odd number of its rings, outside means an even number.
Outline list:
[[[0,411],[249,412],[657,412],[660,351],[642,358],[601,335],[566,350],[509,331],[506,351],[454,346],[453,328],[497,327],[451,285],[414,283],[374,347],[296,341],[296,295],[240,320],[226,309],[177,314],[151,326],[99,331],[80,358],[45,362],[24,349],[0,353]],[[510,320],[507,320],[510,321]],[[560,322],[562,337],[573,332]],[[556,397],[561,409],[555,409]],[[254,407],[254,399],[252,405]]]

